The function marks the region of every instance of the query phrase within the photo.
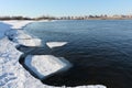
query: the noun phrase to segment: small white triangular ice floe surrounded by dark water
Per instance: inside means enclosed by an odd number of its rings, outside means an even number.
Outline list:
[[[67,44],[67,42],[47,42],[47,43],[46,43],[46,45],[47,45],[50,48],[64,46],[64,45],[66,45],[66,44]]]

